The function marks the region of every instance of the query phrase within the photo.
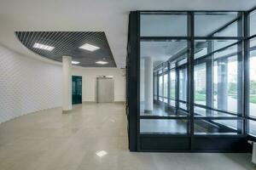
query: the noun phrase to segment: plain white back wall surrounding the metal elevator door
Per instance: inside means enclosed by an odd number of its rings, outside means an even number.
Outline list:
[[[82,76],[83,101],[96,101],[96,77],[113,76],[114,101],[125,101],[125,72],[118,68],[73,67],[73,76]]]

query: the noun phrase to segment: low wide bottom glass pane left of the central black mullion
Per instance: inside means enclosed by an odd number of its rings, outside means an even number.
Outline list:
[[[187,133],[187,120],[141,119],[141,133]]]

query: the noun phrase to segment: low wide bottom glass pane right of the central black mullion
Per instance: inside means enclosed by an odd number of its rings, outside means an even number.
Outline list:
[[[195,120],[195,134],[241,134],[241,120]]]

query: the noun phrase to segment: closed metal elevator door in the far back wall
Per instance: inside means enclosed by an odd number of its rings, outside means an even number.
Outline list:
[[[113,102],[113,78],[97,77],[96,101],[98,103]]]

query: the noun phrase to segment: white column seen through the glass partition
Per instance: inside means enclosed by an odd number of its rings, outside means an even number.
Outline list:
[[[145,113],[150,113],[153,111],[153,61],[151,57],[145,57],[144,62]]]

